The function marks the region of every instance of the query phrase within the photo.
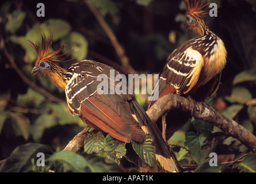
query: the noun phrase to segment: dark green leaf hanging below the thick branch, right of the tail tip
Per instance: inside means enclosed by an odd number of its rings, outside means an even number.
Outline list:
[[[185,134],[186,142],[184,145],[189,148],[190,154],[194,161],[200,162],[200,141],[196,133],[188,132]]]

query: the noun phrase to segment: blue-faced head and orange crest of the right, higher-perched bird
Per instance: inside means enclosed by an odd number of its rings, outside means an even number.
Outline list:
[[[208,10],[202,10],[209,3],[204,0],[183,0],[186,5],[186,17],[184,27],[201,34],[201,29],[205,26],[202,15],[208,14]]]

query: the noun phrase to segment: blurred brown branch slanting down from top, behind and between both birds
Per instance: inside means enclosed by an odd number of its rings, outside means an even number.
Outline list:
[[[109,27],[109,25],[106,23],[104,18],[101,16],[99,11],[90,5],[90,3],[87,3],[85,1],[87,7],[93,13],[99,24],[101,25],[102,29],[105,31],[106,35],[109,37],[109,40],[111,44],[113,45],[113,48],[116,51],[117,57],[120,60],[120,63],[123,67],[126,68],[126,70],[129,71],[129,74],[137,74],[137,72],[132,68],[132,66],[129,64],[129,58],[125,55],[124,48],[121,46],[119,41],[117,40],[116,35],[113,33],[112,29]]]

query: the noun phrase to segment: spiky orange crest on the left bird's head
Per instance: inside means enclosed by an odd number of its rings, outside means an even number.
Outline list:
[[[52,43],[53,43],[52,33],[50,33],[50,36],[48,37],[48,42],[47,42],[47,39],[45,37],[45,34],[42,34],[41,48],[39,47],[39,45],[32,43],[32,41],[29,41],[29,42],[30,42],[31,46],[37,52],[37,60],[36,60],[36,63],[35,63],[36,66],[42,60],[45,60],[45,61],[48,60],[48,61],[51,61],[51,62],[63,62],[63,60],[65,59],[65,57],[62,57],[65,53],[63,53],[61,55],[58,55],[58,53],[60,53],[64,49],[64,47],[66,47],[67,44],[64,44],[62,47],[60,47],[56,51],[53,51],[53,52],[49,53],[49,51],[52,47]]]

